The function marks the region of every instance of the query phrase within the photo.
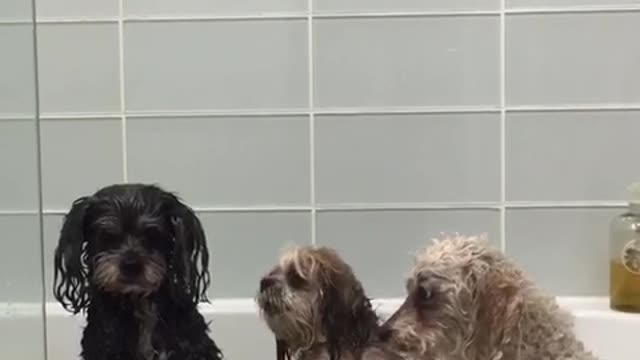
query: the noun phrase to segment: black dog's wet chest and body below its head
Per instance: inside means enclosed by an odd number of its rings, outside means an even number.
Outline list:
[[[208,336],[208,324],[197,308],[176,306],[166,295],[157,293],[136,302],[109,297],[93,299],[82,336],[82,358],[221,359],[220,350]]]

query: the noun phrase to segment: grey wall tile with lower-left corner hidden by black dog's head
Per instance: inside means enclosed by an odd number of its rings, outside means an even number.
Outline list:
[[[158,182],[197,207],[309,203],[304,117],[139,118],[127,125],[131,181]]]

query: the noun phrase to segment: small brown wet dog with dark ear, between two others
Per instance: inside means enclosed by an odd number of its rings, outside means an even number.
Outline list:
[[[256,298],[279,356],[297,360],[397,359],[353,271],[326,247],[285,252]]]

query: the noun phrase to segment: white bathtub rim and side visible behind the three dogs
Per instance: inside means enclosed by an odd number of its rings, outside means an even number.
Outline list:
[[[640,315],[609,310],[606,298],[562,298],[562,306],[576,316],[576,332],[602,360],[640,359]],[[400,300],[377,300],[383,315]],[[2,305],[0,304],[0,307]],[[213,336],[229,360],[269,359],[275,356],[273,338],[257,316],[252,300],[216,300],[202,307],[213,321]],[[42,360],[40,307],[15,304],[0,308],[0,359]],[[83,319],[47,304],[48,360],[77,359]]]

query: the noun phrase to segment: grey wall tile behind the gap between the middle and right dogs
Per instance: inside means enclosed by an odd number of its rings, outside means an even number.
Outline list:
[[[417,250],[456,232],[499,246],[499,219],[491,210],[321,212],[317,243],[340,252],[370,297],[403,297]]]

